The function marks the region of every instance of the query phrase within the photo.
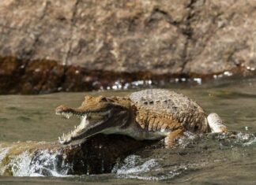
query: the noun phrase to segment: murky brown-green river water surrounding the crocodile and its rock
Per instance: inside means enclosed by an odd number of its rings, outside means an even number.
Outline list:
[[[16,176],[0,176],[0,184],[255,184],[256,79],[216,80],[198,86],[171,84],[166,88],[196,100],[207,113],[218,113],[228,130],[236,133],[188,135],[176,149],[148,146],[117,161],[109,174],[32,177],[32,173],[19,171]],[[0,143],[55,141],[77,125],[77,120],[55,115],[58,105],[78,106],[85,94],[122,96],[137,90],[2,95]],[[0,163],[4,152],[5,148],[0,148]]]

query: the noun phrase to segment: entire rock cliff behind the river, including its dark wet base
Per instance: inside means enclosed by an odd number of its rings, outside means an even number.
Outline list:
[[[256,1],[2,0],[0,93],[254,75]]]

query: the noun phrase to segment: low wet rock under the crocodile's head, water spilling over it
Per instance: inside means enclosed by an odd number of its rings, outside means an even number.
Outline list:
[[[99,174],[111,172],[119,157],[126,157],[150,142],[123,135],[96,135],[81,145],[57,142],[2,142],[0,175],[43,176]],[[152,143],[152,142],[151,142]]]

